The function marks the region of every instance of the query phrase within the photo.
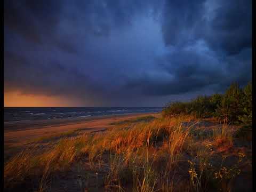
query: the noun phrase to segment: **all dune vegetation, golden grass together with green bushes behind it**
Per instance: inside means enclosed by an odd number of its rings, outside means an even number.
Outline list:
[[[39,139],[4,164],[4,189],[48,191],[75,178],[78,191],[229,191],[251,169],[251,149],[237,147],[251,130],[251,97],[250,84],[233,84],[222,95],[171,103],[162,117],[70,132],[46,149]]]

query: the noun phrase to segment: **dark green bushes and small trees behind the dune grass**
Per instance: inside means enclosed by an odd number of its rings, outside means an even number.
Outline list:
[[[195,115],[199,118],[216,117],[232,124],[252,125],[252,82],[244,87],[232,83],[224,94],[198,96],[190,102],[169,103],[163,116]]]

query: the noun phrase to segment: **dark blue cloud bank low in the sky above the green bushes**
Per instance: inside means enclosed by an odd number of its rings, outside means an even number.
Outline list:
[[[141,90],[149,95],[170,95],[198,91],[214,86],[222,92],[231,82],[247,84],[252,78],[251,49],[239,55],[218,59],[217,56],[199,55],[195,51],[178,50],[159,61],[159,66],[166,72],[164,76],[142,76],[131,79],[127,87]],[[164,61],[165,60],[165,61]],[[202,91],[201,94],[207,94]]]

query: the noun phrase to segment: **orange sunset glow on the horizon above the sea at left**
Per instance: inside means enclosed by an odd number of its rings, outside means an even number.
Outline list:
[[[81,105],[81,103],[80,103]],[[28,95],[20,92],[4,93],[4,107],[75,107],[78,102],[71,101],[68,98],[46,96],[46,95]]]

